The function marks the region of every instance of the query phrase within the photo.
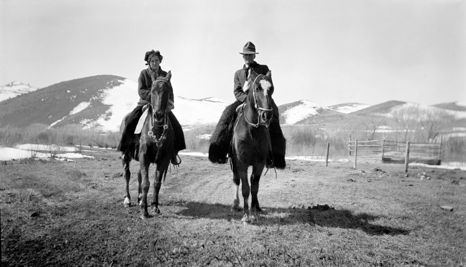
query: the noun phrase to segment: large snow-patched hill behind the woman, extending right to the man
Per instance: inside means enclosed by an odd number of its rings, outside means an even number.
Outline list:
[[[136,107],[138,100],[136,81],[113,75],[86,77],[1,102],[0,125],[80,124],[83,128],[118,131],[124,115]],[[185,128],[215,125],[229,104],[217,98],[175,96],[173,113]]]

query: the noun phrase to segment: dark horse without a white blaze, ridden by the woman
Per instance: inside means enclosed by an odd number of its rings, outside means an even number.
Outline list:
[[[126,151],[122,152],[122,163],[124,168],[124,178],[126,180],[126,194],[123,205],[131,206],[131,197],[129,192],[130,183],[130,161],[131,159],[138,160],[140,163],[139,172],[137,174],[138,197],[137,201],[143,209],[141,219],[147,219],[147,193],[149,192],[149,165],[155,164],[156,171],[154,174],[154,195],[151,205],[155,207],[155,212],[160,213],[158,209],[158,192],[162,184],[162,177],[165,178],[171,157],[174,156],[174,134],[168,119],[167,103],[170,93],[171,72],[167,73],[166,77],[152,77],[151,101],[148,105],[149,113],[144,121],[141,136],[135,138]],[[120,135],[122,134],[124,125],[128,118],[127,114],[122,121],[120,127]],[[138,146],[139,143],[139,146]],[[138,153],[137,151],[138,146]]]

